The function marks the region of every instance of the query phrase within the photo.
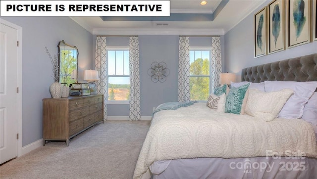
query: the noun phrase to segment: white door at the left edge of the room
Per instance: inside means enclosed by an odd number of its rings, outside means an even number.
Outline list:
[[[0,24],[0,163],[17,157],[17,30]]]

